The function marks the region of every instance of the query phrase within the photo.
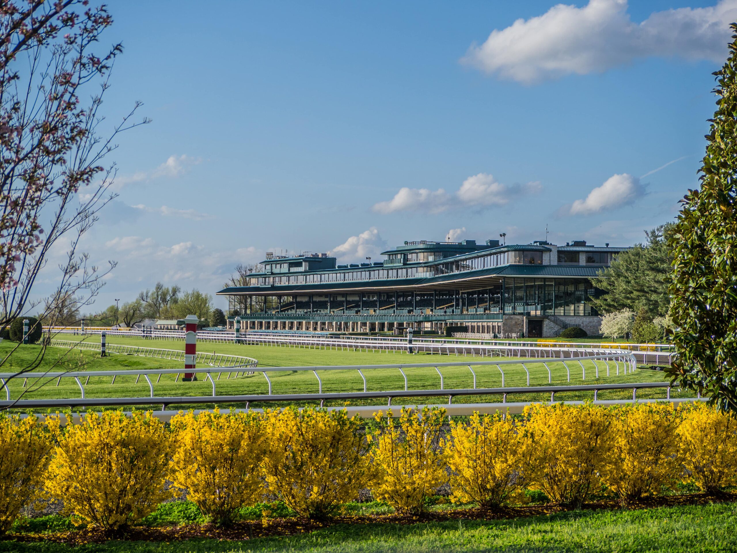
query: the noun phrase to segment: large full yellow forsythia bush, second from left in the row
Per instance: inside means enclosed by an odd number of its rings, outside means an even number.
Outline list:
[[[49,428],[57,439],[46,490],[66,512],[116,533],[148,515],[170,497],[164,479],[172,439],[150,412],[85,414],[66,426],[54,417]]]

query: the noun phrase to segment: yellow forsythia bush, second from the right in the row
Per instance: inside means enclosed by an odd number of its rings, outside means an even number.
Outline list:
[[[680,473],[680,417],[673,404],[643,403],[612,414],[612,451],[604,481],[626,501],[659,493]]]

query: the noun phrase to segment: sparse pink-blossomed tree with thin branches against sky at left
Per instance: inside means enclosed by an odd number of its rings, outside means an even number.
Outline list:
[[[62,237],[62,277],[42,310],[69,297],[84,305],[109,271],[77,245],[114,197],[114,166],[102,166],[113,137],[147,122],[132,122],[136,102],[100,136],[102,95],[122,52],[120,44],[96,51],[112,21],[88,0],[0,0],[0,328],[35,307],[33,285]]]

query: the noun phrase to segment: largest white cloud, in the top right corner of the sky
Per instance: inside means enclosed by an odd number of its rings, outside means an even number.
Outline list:
[[[604,72],[637,58],[721,61],[736,18],[737,0],[654,12],[639,24],[630,20],[626,0],[557,4],[543,15],[495,29],[461,61],[526,84]]]

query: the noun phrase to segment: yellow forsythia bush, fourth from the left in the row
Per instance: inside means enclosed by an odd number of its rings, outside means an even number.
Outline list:
[[[267,414],[268,490],[308,518],[326,518],[371,481],[360,418],[345,410],[287,408]]]

